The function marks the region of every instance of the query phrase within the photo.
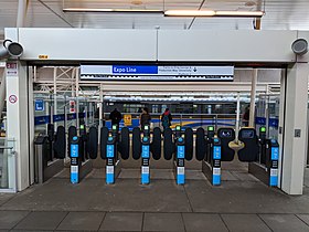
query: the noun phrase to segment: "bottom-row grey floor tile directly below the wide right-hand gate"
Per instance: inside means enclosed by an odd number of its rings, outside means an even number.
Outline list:
[[[231,232],[268,232],[270,229],[257,214],[222,214]]]

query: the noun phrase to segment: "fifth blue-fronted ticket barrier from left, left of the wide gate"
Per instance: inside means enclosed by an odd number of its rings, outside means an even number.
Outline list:
[[[221,184],[222,143],[215,137],[214,127],[209,126],[207,133],[202,127],[196,129],[195,157],[202,161],[202,171],[213,186]]]

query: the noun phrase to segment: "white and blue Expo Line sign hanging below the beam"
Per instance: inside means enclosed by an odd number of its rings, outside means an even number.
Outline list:
[[[233,81],[234,66],[81,65],[81,80]]]

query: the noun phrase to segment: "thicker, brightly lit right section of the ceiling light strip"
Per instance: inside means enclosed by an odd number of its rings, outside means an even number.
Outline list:
[[[164,17],[263,17],[263,11],[167,10]]]

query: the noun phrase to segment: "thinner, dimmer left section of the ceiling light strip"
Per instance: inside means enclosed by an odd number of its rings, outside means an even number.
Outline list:
[[[163,13],[161,10],[147,9],[105,9],[105,8],[65,8],[63,12],[76,13]]]

